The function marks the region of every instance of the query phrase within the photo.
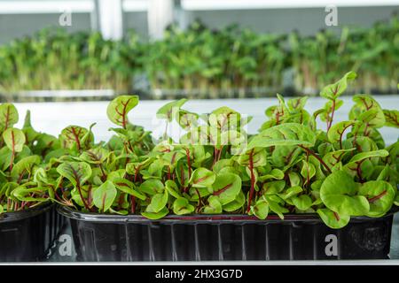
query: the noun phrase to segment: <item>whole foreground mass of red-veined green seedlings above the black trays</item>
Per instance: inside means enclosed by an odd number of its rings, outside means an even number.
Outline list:
[[[265,111],[258,134],[247,134],[250,117],[228,107],[206,114],[186,111],[186,99],[157,112],[166,123],[155,140],[128,113],[137,96],[118,96],[107,108],[117,127],[108,142],[94,142],[89,129],[67,126],[59,137],[37,133],[29,116],[13,127],[18,112],[0,106],[0,210],[26,210],[56,202],[92,213],[317,213],[327,226],[346,226],[350,217],[381,217],[398,204],[399,142],[386,146],[379,128],[399,127],[399,111],[383,110],[368,95],[353,97],[349,119],[333,123],[340,95],[356,73],[346,73],[320,95],[325,106],[311,114],[307,97]],[[326,131],[317,127],[326,124]],[[168,125],[183,134],[175,141]]]

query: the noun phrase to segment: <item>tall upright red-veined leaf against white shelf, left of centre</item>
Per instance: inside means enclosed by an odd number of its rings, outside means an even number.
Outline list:
[[[118,96],[108,104],[106,115],[113,124],[126,128],[129,124],[128,113],[138,103],[138,96]]]

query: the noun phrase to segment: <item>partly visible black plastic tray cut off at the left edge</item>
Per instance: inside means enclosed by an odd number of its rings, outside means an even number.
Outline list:
[[[35,262],[48,256],[66,223],[54,204],[0,216],[0,262]]]

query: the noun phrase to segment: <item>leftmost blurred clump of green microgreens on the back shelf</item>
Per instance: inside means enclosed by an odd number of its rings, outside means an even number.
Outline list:
[[[137,34],[113,42],[99,33],[45,28],[0,47],[0,92],[59,89],[131,89],[137,70]]]

